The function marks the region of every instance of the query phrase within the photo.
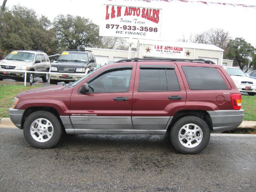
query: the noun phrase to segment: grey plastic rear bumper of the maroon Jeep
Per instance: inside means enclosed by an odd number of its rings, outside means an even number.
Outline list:
[[[236,129],[244,119],[244,110],[207,111],[212,118],[213,132]]]

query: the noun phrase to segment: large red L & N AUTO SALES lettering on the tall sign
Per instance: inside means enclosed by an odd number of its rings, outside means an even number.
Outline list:
[[[121,17],[121,6],[117,6],[116,10],[115,7],[112,6],[111,13],[109,13],[109,6],[106,6],[106,20],[109,18],[113,19],[115,17]],[[150,8],[136,8],[136,7],[126,7],[124,11],[124,16],[137,16],[152,22],[158,23],[159,22],[159,12],[160,10],[157,9],[150,9]]]

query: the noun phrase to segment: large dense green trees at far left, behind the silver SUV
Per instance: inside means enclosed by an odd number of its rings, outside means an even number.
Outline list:
[[[46,16],[38,17],[32,9],[23,6],[6,9],[0,16],[0,52],[42,50],[55,53],[56,35],[50,26]]]

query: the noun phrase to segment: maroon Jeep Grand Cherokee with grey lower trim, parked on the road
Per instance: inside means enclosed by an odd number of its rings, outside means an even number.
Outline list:
[[[181,153],[202,151],[210,132],[244,117],[241,94],[222,66],[205,60],[130,59],[76,82],[22,92],[9,116],[37,148],[67,134],[165,134]]]

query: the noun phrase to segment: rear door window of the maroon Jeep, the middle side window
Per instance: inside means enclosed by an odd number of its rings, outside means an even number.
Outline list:
[[[174,69],[141,68],[138,91],[180,90]]]

